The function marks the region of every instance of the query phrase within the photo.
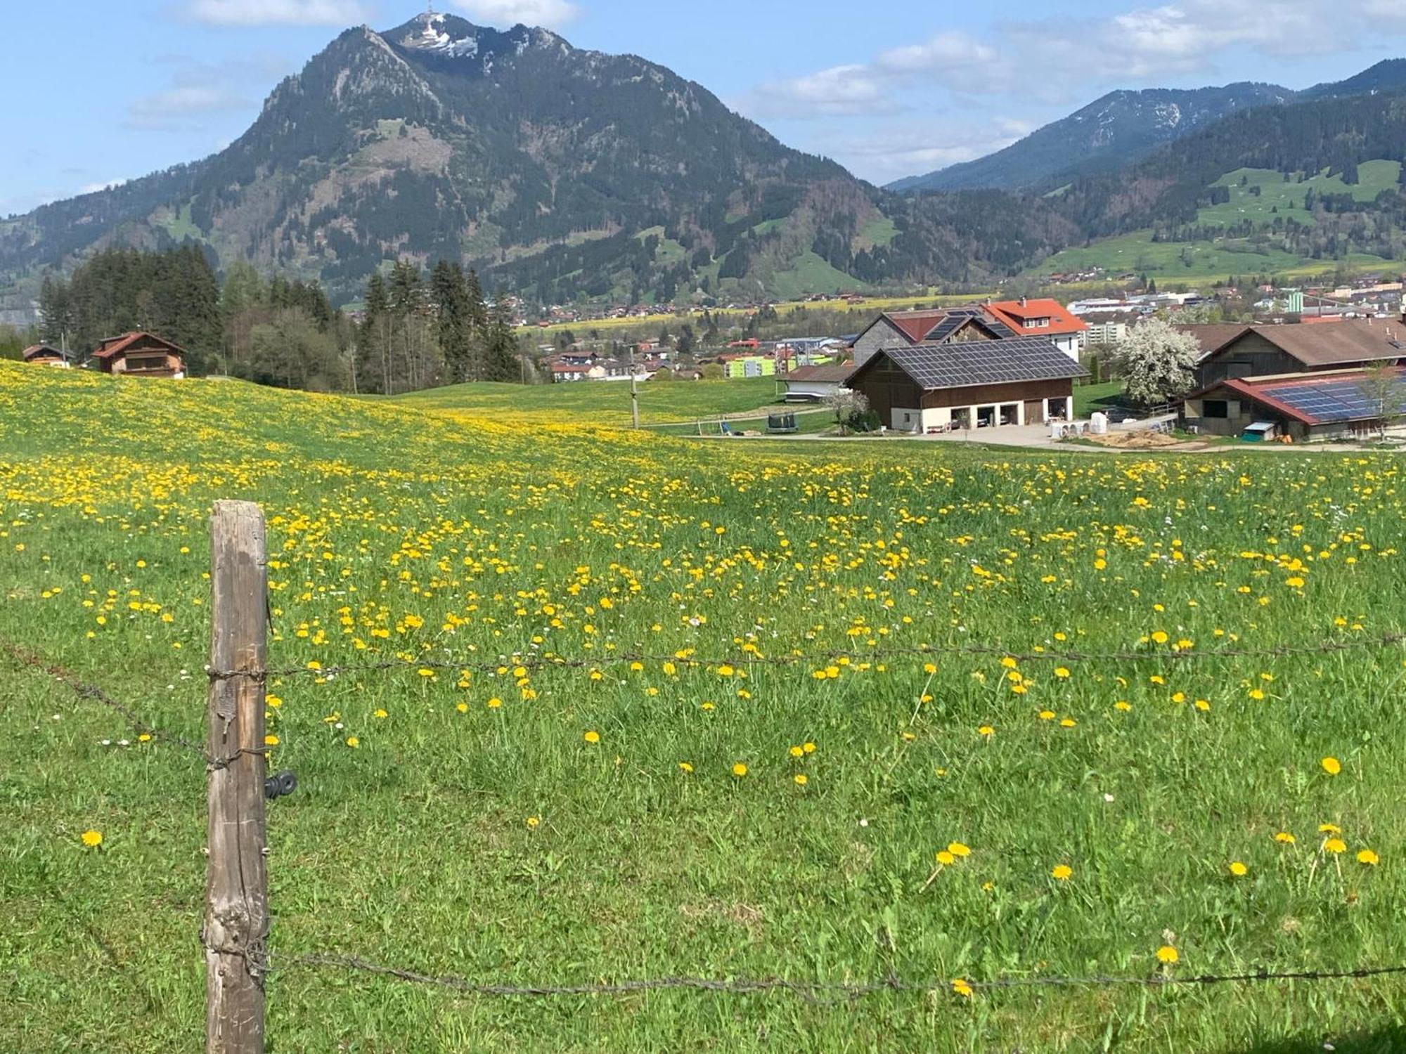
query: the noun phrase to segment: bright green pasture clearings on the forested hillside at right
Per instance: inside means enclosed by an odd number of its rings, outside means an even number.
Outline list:
[[[1353,194],[1358,201],[1371,201],[1382,190],[1398,184],[1399,162],[1374,160],[1358,166],[1358,183],[1348,187],[1341,177],[1312,176],[1302,183],[1284,181],[1284,174],[1270,169],[1237,169],[1212,186],[1230,188],[1230,201],[1201,208],[1198,223],[1232,226],[1250,219],[1265,230],[1278,216],[1299,223],[1313,222],[1303,208],[1308,191],[1320,194]],[[1240,180],[1246,178],[1246,186]],[[1260,193],[1251,193],[1258,187]],[[1275,245],[1270,233],[1254,238],[1220,238],[1213,242],[1153,242],[1150,230],[1135,230],[1104,239],[1091,246],[1066,249],[1045,260],[1032,274],[1081,271],[1102,267],[1111,274],[1147,274],[1159,281],[1206,281],[1229,274],[1284,274],[1308,277],[1336,267],[1372,270],[1392,266],[1392,261],[1367,253],[1353,253],[1344,260],[1308,260],[1286,253]]]

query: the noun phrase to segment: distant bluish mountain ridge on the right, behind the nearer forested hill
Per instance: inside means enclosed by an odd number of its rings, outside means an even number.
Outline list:
[[[887,190],[904,194],[976,188],[1042,193],[1135,164],[1160,146],[1244,110],[1400,90],[1406,90],[1406,59],[1386,59],[1347,80],[1303,91],[1256,83],[1109,91],[995,153],[897,180]]]

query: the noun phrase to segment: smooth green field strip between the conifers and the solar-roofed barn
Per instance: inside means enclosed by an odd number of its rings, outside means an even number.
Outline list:
[[[641,423],[689,422],[745,413],[776,402],[776,378],[733,381],[645,381],[640,388]],[[460,384],[398,395],[394,402],[422,410],[467,410],[489,417],[546,416],[558,423],[627,426],[630,385],[624,381],[574,384]]]

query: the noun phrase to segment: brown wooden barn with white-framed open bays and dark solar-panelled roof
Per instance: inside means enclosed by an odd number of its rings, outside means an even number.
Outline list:
[[[1074,412],[1078,363],[1049,337],[890,347],[849,379],[880,423],[898,431],[1040,424]]]

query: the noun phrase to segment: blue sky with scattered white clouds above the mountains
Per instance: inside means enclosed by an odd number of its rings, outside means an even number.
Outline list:
[[[4,0],[0,216],[214,153],[340,31],[423,0]],[[875,183],[1000,149],[1112,89],[1291,89],[1406,56],[1406,0],[436,0],[702,83]]]

